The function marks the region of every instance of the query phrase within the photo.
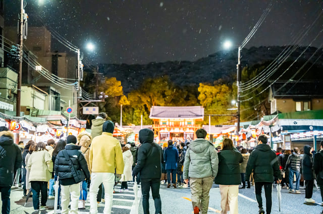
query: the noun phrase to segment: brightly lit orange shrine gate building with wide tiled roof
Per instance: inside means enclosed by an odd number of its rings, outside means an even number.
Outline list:
[[[202,126],[196,124],[203,121],[203,106],[152,106],[149,118],[153,120],[152,128],[157,135],[157,142],[186,139],[194,140],[195,131]]]

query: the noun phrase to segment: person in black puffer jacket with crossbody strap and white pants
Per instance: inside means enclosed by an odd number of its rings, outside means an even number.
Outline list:
[[[75,145],[77,139],[74,135],[69,135],[66,139],[65,149],[60,151],[55,160],[55,172],[59,175],[62,193],[62,213],[68,212],[69,196],[71,193],[71,213],[77,213],[80,197],[81,181],[90,179],[90,172],[80,146]],[[64,153],[68,156],[65,158]],[[72,161],[73,167],[77,171],[75,175],[69,162]],[[75,177],[79,177],[75,181]]]

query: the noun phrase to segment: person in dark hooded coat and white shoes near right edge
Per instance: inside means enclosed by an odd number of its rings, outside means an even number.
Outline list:
[[[304,156],[302,158],[302,174],[305,180],[305,202],[315,203],[312,199],[313,195],[313,185],[314,185],[314,171],[313,171],[313,161],[312,161],[312,151],[313,148],[305,145],[304,146]]]

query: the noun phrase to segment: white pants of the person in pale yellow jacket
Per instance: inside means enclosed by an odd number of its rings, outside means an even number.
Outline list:
[[[90,185],[90,213],[97,213],[96,195],[99,185],[104,186],[104,214],[110,214],[113,200],[113,186],[115,184],[115,174],[109,172],[92,172]]]

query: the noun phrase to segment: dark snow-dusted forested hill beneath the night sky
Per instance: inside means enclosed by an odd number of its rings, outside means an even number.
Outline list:
[[[257,64],[267,64],[276,59],[286,47],[251,47],[243,49],[241,52],[242,67],[252,67]],[[305,47],[299,47],[289,57],[287,61],[294,61]],[[299,58],[298,62],[305,62],[317,48],[310,47]],[[323,49],[310,59],[311,63],[323,53]],[[125,94],[140,86],[144,79],[158,76],[169,76],[177,85],[197,85],[200,82],[210,82],[220,78],[227,82],[236,81],[237,49],[232,51],[220,51],[196,61],[168,61],[151,62],[145,65],[128,64],[102,64],[100,72],[106,77],[116,77],[120,80]],[[323,68],[323,57],[315,62],[315,68],[320,71]],[[294,68],[295,69],[295,68]]]

